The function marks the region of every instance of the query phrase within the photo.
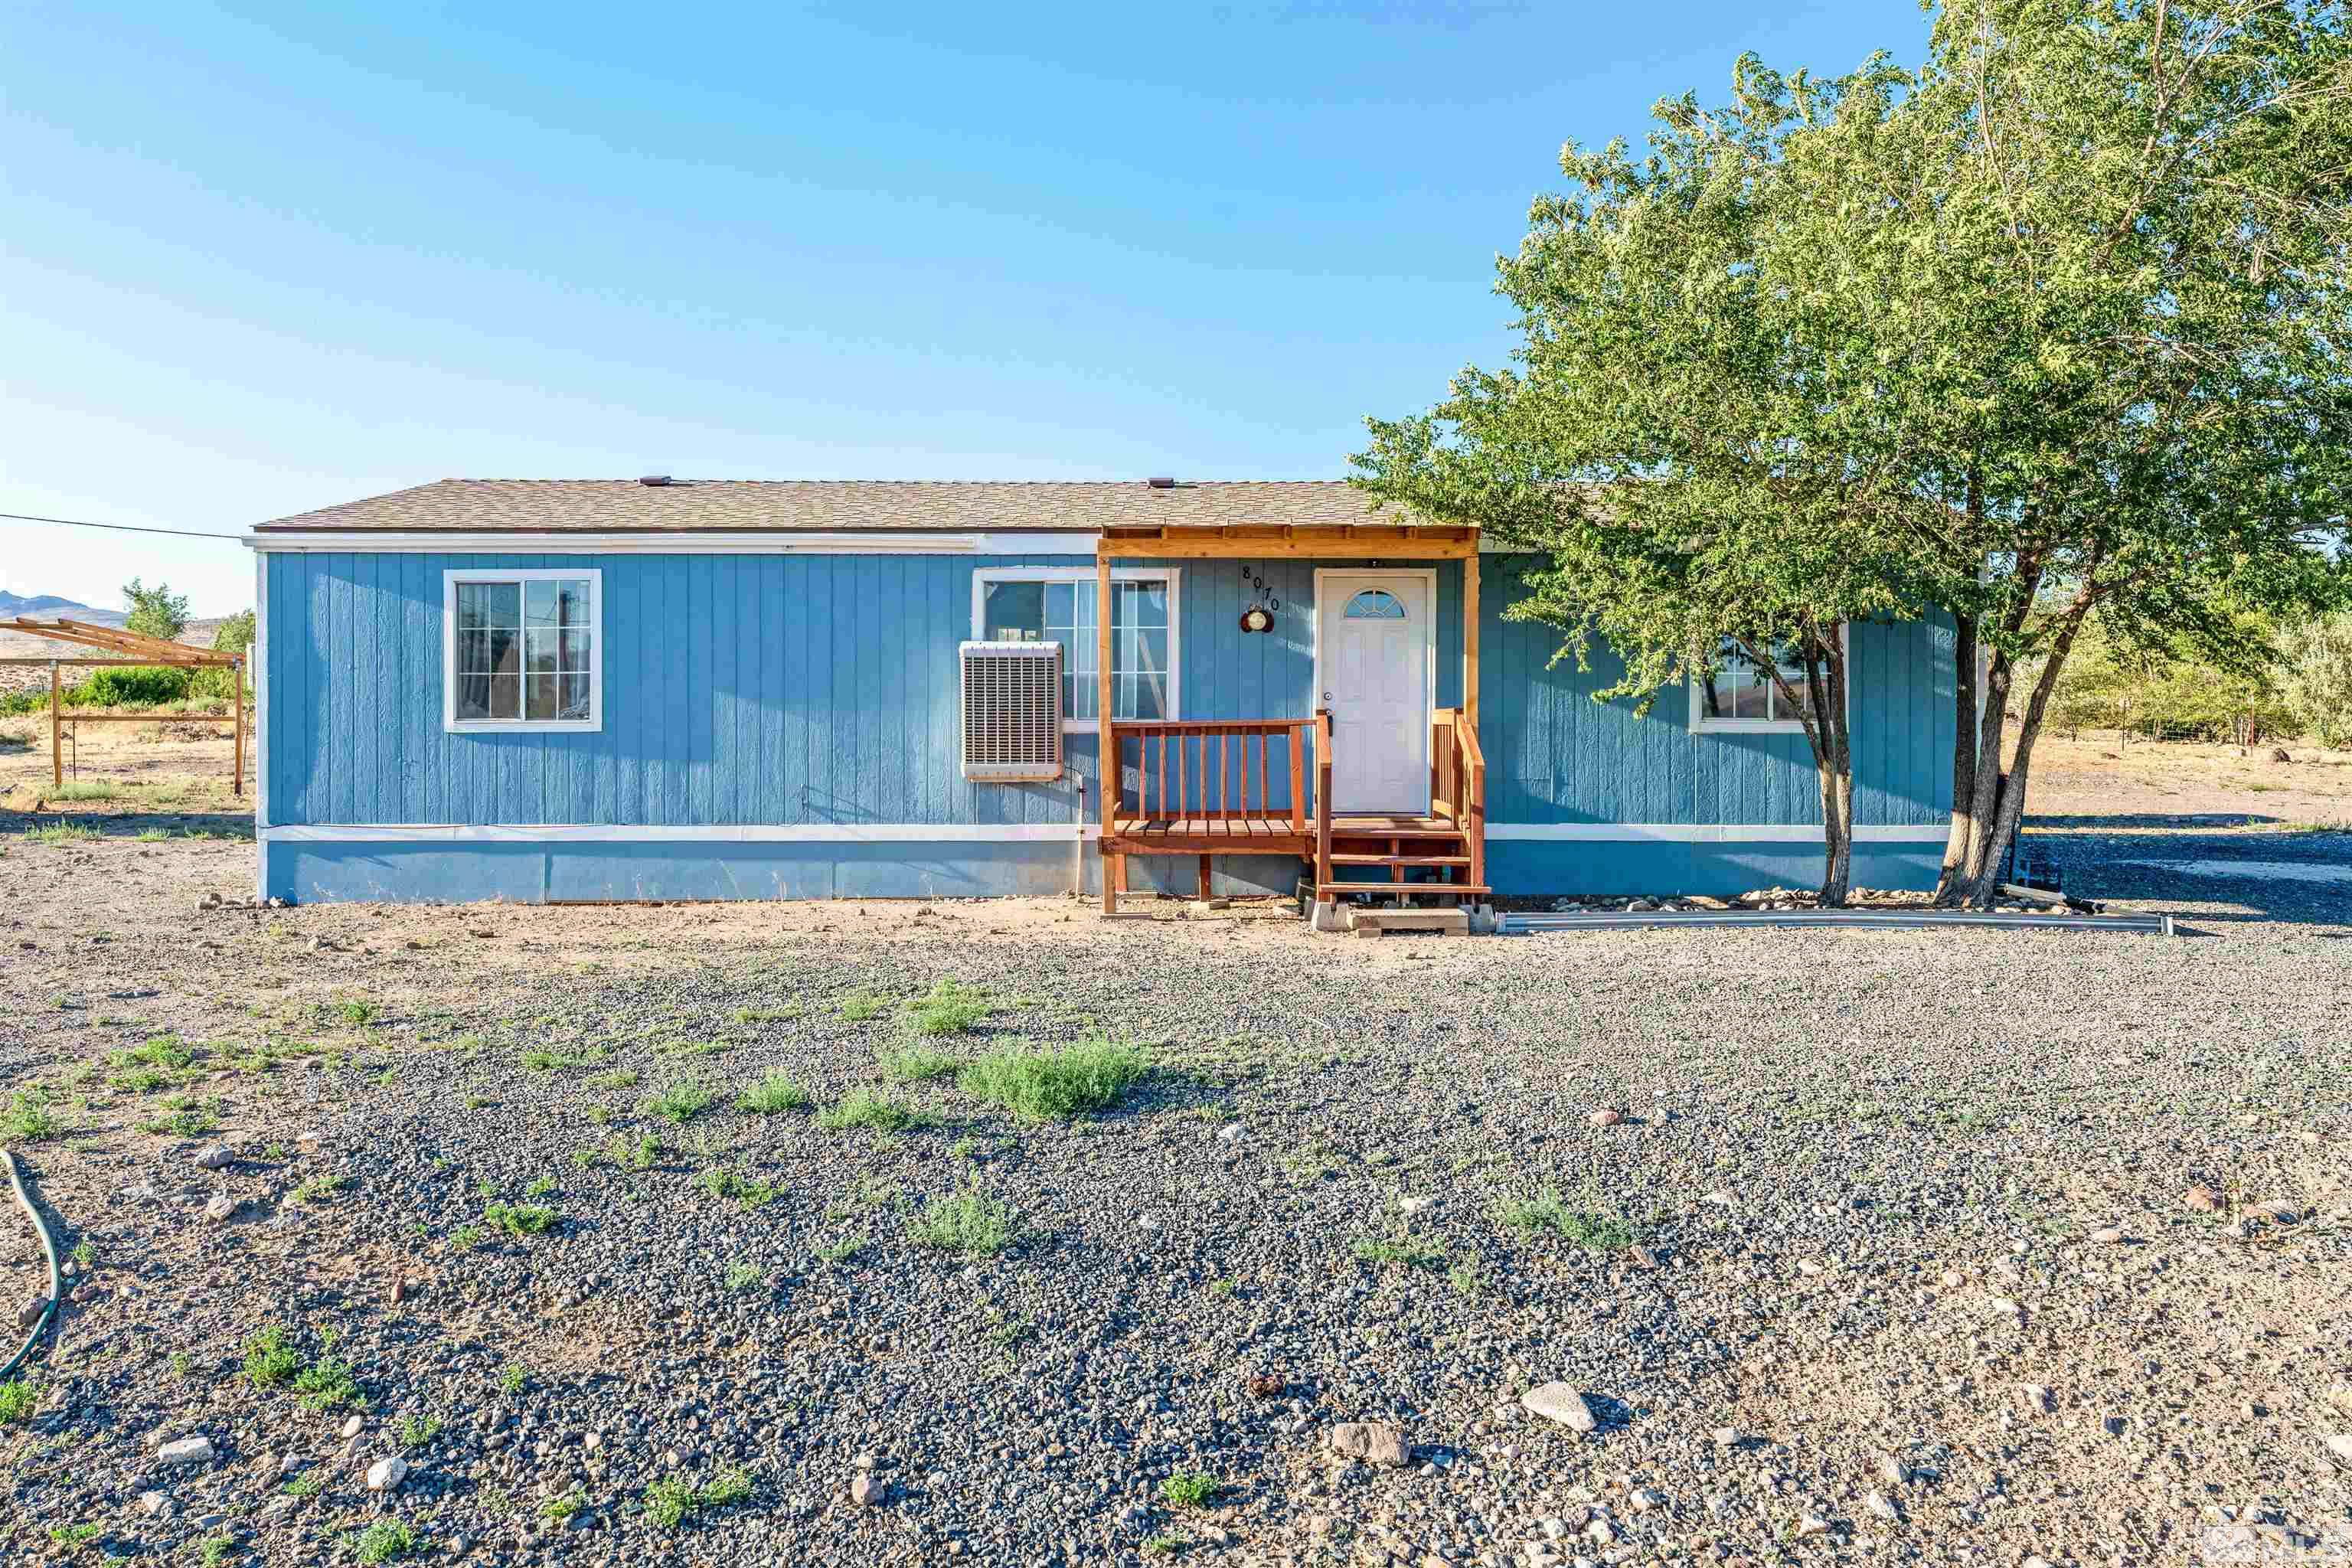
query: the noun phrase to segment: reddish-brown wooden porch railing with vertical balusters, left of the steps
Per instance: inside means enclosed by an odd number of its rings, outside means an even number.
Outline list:
[[[1120,719],[1103,726],[1103,827],[1258,823],[1308,830],[1312,719]]]

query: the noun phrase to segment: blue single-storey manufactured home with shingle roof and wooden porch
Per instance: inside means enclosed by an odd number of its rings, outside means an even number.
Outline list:
[[[1820,875],[1769,682],[1595,703],[1609,670],[1503,618],[1524,559],[1345,484],[445,480],[252,545],[263,896],[1108,907]],[[1853,879],[1929,886],[1950,635],[1849,649]]]

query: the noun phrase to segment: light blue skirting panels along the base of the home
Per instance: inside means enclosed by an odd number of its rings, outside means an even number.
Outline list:
[[[1853,884],[1936,884],[1943,839],[1853,846]],[[642,903],[699,898],[990,898],[1101,889],[1094,842],[334,842],[261,844],[261,891],[294,903]],[[1303,865],[1216,858],[1218,893],[1291,893]],[[1195,891],[1195,858],[1131,858],[1129,891]],[[1496,893],[1712,893],[1813,886],[1804,842],[1489,839]]]

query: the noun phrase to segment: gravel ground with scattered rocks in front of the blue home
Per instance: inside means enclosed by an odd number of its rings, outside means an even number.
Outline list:
[[[2173,940],[1470,943],[200,910],[249,844],[0,842],[0,1095],[61,1128],[7,1140],[85,1248],[0,1425],[7,1561],[2352,1552],[2352,884],[2147,865],[2347,837],[2056,839]],[[1068,1124],[884,1084],[943,978],[993,1009],[927,1041],[957,1058],[1108,1030],[1152,1070]],[[162,1034],[191,1060],[113,1056]],[[734,1110],[776,1067],[929,1124]],[[652,1112],[680,1081],[720,1098]],[[920,1244],[969,1192],[1018,1239]],[[268,1328],[303,1382],[247,1375]],[[1522,1403],[1552,1382],[1590,1432]],[[1406,1462],[1334,1455],[1343,1422]]]

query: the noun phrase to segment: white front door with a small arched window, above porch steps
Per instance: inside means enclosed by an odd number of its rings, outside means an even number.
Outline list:
[[[1331,710],[1331,811],[1430,809],[1430,578],[1317,571],[1315,668]]]

